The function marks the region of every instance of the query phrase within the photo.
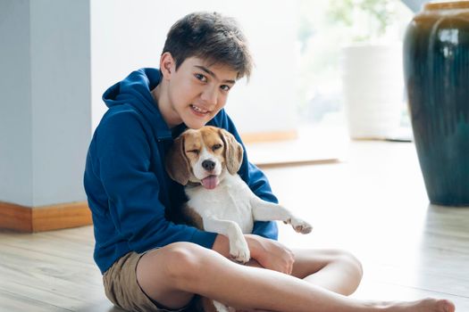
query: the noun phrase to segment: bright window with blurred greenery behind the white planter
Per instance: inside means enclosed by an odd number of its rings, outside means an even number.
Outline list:
[[[298,0],[297,14],[298,115],[305,125],[345,127],[342,48],[399,42],[413,13],[398,0]],[[408,127],[404,98],[402,90]]]

